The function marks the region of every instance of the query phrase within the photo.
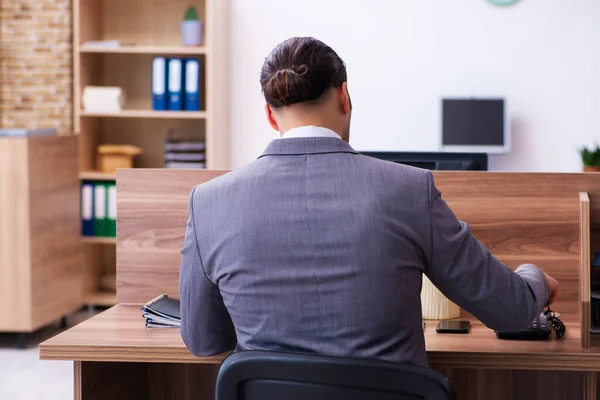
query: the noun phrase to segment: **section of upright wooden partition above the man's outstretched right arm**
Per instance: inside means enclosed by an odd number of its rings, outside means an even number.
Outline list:
[[[553,308],[578,321],[578,192],[540,193],[543,185],[530,177],[462,173],[435,179],[457,217],[498,259],[512,269],[532,263],[555,277],[561,292]]]

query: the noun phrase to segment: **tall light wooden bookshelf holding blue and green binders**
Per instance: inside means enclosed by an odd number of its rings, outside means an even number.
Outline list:
[[[188,6],[204,24],[203,44],[182,45],[180,23]],[[73,0],[73,125],[79,137],[80,181],[115,181],[116,174],[96,170],[101,144],[130,144],[142,149],[136,168],[163,167],[169,131],[206,144],[210,169],[229,168],[228,14],[222,0]],[[115,48],[89,41],[118,40]],[[151,72],[155,56],[194,58],[201,65],[199,111],[154,111]],[[87,112],[86,86],[118,86],[126,104],[118,113]],[[82,237],[84,298],[91,306],[110,306],[114,293],[99,285],[115,273],[115,238]]]

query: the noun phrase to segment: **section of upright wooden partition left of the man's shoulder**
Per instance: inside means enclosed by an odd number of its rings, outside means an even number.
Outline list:
[[[180,251],[195,185],[227,171],[130,169],[117,172],[117,302],[179,297]]]

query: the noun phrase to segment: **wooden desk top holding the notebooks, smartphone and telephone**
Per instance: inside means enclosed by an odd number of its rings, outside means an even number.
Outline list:
[[[425,328],[427,355],[436,366],[600,370],[600,348],[582,349],[579,324],[564,322],[564,339],[527,342],[499,340],[478,321],[468,335],[438,334],[431,321]],[[178,329],[147,329],[135,305],[117,305],[40,345],[45,360],[219,364],[226,356],[193,356]]]

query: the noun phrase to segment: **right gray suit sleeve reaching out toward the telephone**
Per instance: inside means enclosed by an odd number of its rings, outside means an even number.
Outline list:
[[[550,296],[542,271],[516,271],[495,258],[459,221],[429,174],[431,253],[425,274],[448,299],[496,330],[527,327]]]

